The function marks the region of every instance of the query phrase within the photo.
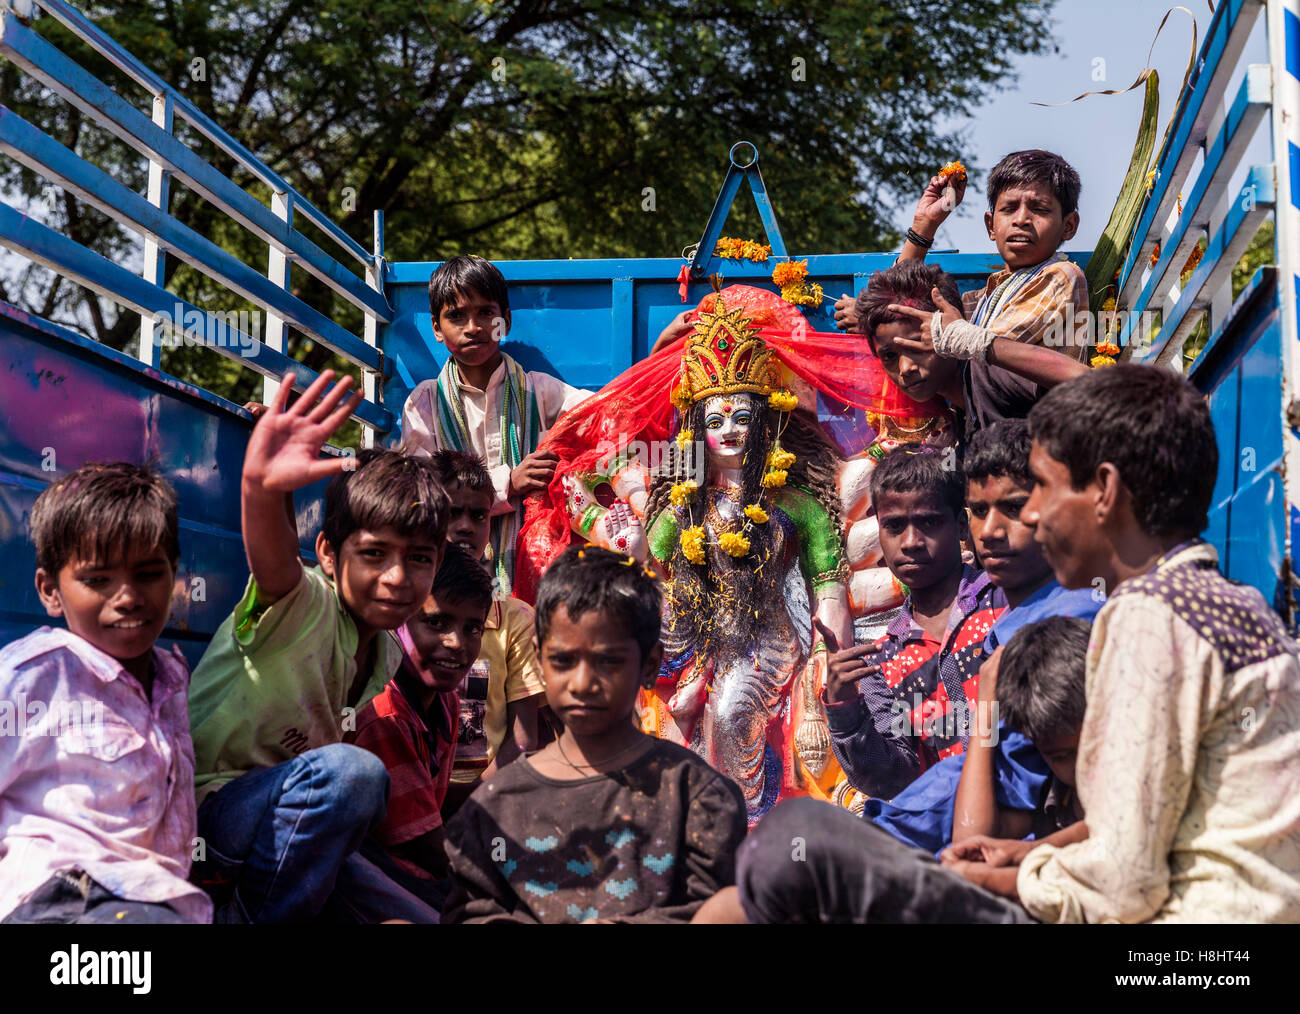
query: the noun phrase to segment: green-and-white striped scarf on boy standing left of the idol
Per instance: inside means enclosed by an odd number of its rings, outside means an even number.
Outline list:
[[[514,359],[502,352],[506,364],[506,381],[502,385],[500,399],[500,460],[515,468],[528,455],[537,450],[541,439],[542,420],[537,411],[537,396],[528,373]],[[462,395],[464,381],[455,359],[438,374],[438,412],[434,420],[434,436],[438,445],[454,451],[473,454],[469,441],[469,426],[465,422],[465,406]],[[515,578],[515,537],[524,520],[524,506],[520,503],[510,514],[499,514],[491,519],[491,537],[488,551],[491,558],[495,594],[508,598]]]

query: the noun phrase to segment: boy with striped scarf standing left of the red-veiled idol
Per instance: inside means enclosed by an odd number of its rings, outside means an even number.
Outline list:
[[[510,334],[506,278],[484,257],[463,254],[429,278],[433,334],[450,359],[436,380],[421,381],[402,412],[407,454],[439,450],[477,454],[491,473],[490,563],[498,598],[515,577],[515,537],[523,500],[541,493],[559,459],[538,451],[542,436],[566,411],[590,395],[549,373],[525,372],[500,351]]]

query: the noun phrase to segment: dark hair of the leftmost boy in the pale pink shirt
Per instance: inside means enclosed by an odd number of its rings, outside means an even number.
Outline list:
[[[36,497],[29,520],[36,567],[57,577],[78,556],[108,563],[118,552],[159,546],[172,567],[181,559],[176,490],[148,468],[88,463]]]

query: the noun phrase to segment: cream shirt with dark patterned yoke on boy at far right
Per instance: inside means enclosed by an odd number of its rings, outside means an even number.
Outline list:
[[[1097,614],[1078,790],[1088,838],[1034,849],[1046,922],[1300,922],[1300,663],[1192,541]]]

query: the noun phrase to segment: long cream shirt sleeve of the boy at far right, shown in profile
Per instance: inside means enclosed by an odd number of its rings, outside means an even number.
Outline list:
[[[1144,922],[1169,897],[1201,707],[1221,699],[1223,672],[1210,645],[1145,594],[1106,603],[1092,653],[1076,767],[1088,837],[1034,849],[1018,890],[1043,922]]]

